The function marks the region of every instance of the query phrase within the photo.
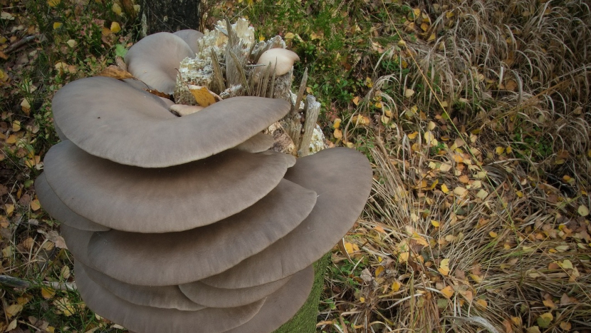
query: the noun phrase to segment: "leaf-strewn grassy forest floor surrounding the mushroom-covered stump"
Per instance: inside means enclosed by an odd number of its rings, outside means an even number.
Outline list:
[[[73,265],[33,189],[53,93],[133,43],[130,0],[105,1],[0,0],[0,275],[28,281],[0,283],[0,332],[125,332],[52,288]],[[282,36],[330,145],[374,168],[318,332],[591,332],[585,1],[219,2],[202,28]]]

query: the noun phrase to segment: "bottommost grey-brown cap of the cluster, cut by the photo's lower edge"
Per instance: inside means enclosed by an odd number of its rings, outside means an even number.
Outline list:
[[[199,311],[158,309],[126,302],[90,280],[84,267],[74,265],[76,285],[85,304],[101,317],[142,333],[221,333],[238,327],[261,309],[264,299],[244,307]]]

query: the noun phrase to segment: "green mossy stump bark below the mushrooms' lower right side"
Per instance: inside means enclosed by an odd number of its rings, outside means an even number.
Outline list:
[[[326,267],[330,262],[330,252],[314,262],[314,285],[303,306],[295,313],[289,322],[281,325],[273,333],[314,333],[318,318],[318,304],[324,285]]]

